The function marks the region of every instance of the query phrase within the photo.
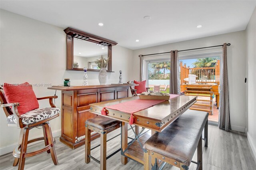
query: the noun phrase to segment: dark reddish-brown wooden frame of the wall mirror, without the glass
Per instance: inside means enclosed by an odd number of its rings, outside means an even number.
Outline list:
[[[73,28],[66,28],[64,30],[66,33],[66,49],[67,49],[67,56],[66,56],[66,70],[76,70],[76,71],[84,71],[82,68],[74,68],[74,37],[79,38],[81,40],[85,40],[92,43],[98,43],[105,46],[108,46],[108,69],[107,72],[112,71],[112,46],[116,45],[116,42],[111,40],[107,40],[105,38],[101,38],[98,36],[94,36],[92,34],[88,34],[86,32],[82,32]],[[100,69],[87,69],[87,71],[100,71]]]

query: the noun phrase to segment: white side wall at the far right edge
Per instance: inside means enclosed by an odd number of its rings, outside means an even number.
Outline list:
[[[246,28],[246,40],[247,137],[256,157],[256,8]]]

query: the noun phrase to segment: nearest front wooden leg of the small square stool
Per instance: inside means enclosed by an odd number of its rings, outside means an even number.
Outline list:
[[[106,170],[107,166],[107,133],[100,134],[100,170]]]

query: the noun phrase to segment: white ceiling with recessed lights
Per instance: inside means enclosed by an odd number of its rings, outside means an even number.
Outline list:
[[[256,0],[0,1],[4,10],[63,29],[76,28],[130,49],[245,30],[255,6]],[[104,26],[98,26],[100,22]]]

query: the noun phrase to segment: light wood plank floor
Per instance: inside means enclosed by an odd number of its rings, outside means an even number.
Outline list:
[[[108,134],[108,138],[118,134],[120,129]],[[133,137],[132,131],[129,131],[129,136]],[[256,159],[252,153],[245,133],[242,132],[226,132],[218,127],[209,126],[209,141],[208,147],[204,148],[203,154],[203,169],[204,170],[256,170]],[[186,136],[184,136],[186,137]],[[92,147],[99,144],[100,140],[92,141]],[[29,150],[41,148],[44,143],[40,142],[30,146]],[[120,147],[120,137],[117,137],[108,142],[108,154]],[[92,150],[92,155],[99,159],[99,147]],[[98,170],[100,165],[91,160],[89,164],[84,163],[84,146],[76,150],[70,149],[62,144],[56,138],[55,150],[59,165],[54,166],[50,154],[43,154],[26,158],[26,170]],[[128,164],[121,164],[120,152],[112,156],[107,161],[108,170],[142,170],[143,166],[128,159]],[[16,170],[18,167],[13,167],[14,157],[12,153],[0,156],[0,169]],[[196,155],[194,155],[196,161]],[[178,170],[173,166],[165,166],[165,170]],[[196,166],[191,163],[190,170],[195,170]]]

